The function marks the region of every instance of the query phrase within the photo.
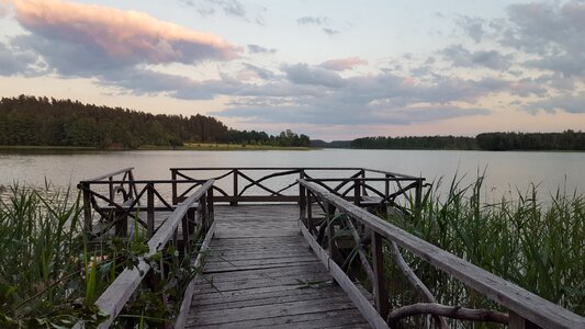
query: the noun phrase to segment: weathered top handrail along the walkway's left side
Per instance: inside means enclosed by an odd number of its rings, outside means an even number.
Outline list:
[[[140,258],[139,263],[134,269],[125,269],[114,282],[95,300],[100,310],[109,315],[109,318],[100,324],[99,328],[109,328],[112,321],[120,314],[134,291],[138,287],[150,265],[144,260],[161,251],[166,243],[172,238],[175,230],[183,220],[190,206],[203,197],[213,186],[213,180],[205,182],[198,191],[177,206],[169,218],[160,226],[157,232],[148,240],[148,252]],[[213,218],[209,218],[213,220]]]

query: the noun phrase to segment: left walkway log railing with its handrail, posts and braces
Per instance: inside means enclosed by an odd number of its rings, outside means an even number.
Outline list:
[[[116,184],[113,181],[113,184]],[[136,182],[138,184],[139,182]],[[139,263],[133,269],[125,269],[115,281],[103,292],[97,299],[95,305],[103,313],[109,315],[109,318],[100,324],[99,328],[109,328],[114,319],[120,315],[124,305],[131,299],[136,288],[140,285],[144,277],[150,270],[148,258],[161,252],[166,246],[172,243],[173,237],[177,236],[179,225],[182,224],[183,235],[187,235],[185,240],[191,241],[191,245],[196,245],[200,250],[206,248],[211,236],[214,231],[214,209],[213,209],[213,180],[202,183],[201,186],[190,194],[184,201],[173,207],[172,213],[165,220],[165,223],[154,232],[148,240],[148,252],[140,258]],[[139,195],[138,192],[137,195]],[[190,214],[196,207],[198,220],[191,222]],[[191,223],[191,224],[190,224]],[[190,228],[189,226],[192,227]],[[196,226],[196,227],[195,227]],[[196,241],[194,240],[196,238]],[[183,240],[184,242],[184,240]],[[191,250],[193,252],[194,250]],[[194,253],[196,254],[196,253]],[[192,257],[192,253],[187,253],[184,257]],[[199,253],[195,264],[201,264],[201,253]],[[164,276],[164,266],[157,271],[156,275]],[[156,280],[155,280],[156,281]],[[184,299],[191,300],[193,294],[192,284],[185,291]],[[184,303],[183,303],[184,304]],[[178,319],[183,321],[185,311],[189,305],[181,307],[181,313]]]

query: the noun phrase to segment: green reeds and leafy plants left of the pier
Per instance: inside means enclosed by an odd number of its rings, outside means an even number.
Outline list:
[[[44,192],[14,185],[0,197],[0,328],[69,328],[76,322],[93,328],[105,318],[95,299],[148,251],[144,230],[136,228],[139,234],[128,240],[90,240],[82,231],[79,197],[69,191]],[[179,285],[161,280],[154,287],[140,286],[116,326],[143,328],[171,318],[196,272],[173,247],[147,261],[153,272],[162,266]],[[162,295],[171,303],[162,303]]]

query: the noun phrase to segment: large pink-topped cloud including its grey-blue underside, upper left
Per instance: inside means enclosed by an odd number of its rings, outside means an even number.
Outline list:
[[[16,42],[37,50],[64,72],[85,70],[75,67],[76,64],[115,69],[137,64],[230,60],[240,52],[214,34],[158,21],[140,12],[60,0],[14,0],[13,4],[15,19],[31,32]]]

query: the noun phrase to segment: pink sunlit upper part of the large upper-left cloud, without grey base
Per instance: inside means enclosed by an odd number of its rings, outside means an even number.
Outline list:
[[[222,37],[137,11],[60,0],[12,0],[21,25],[50,39],[90,45],[131,63],[229,60],[241,52]]]

